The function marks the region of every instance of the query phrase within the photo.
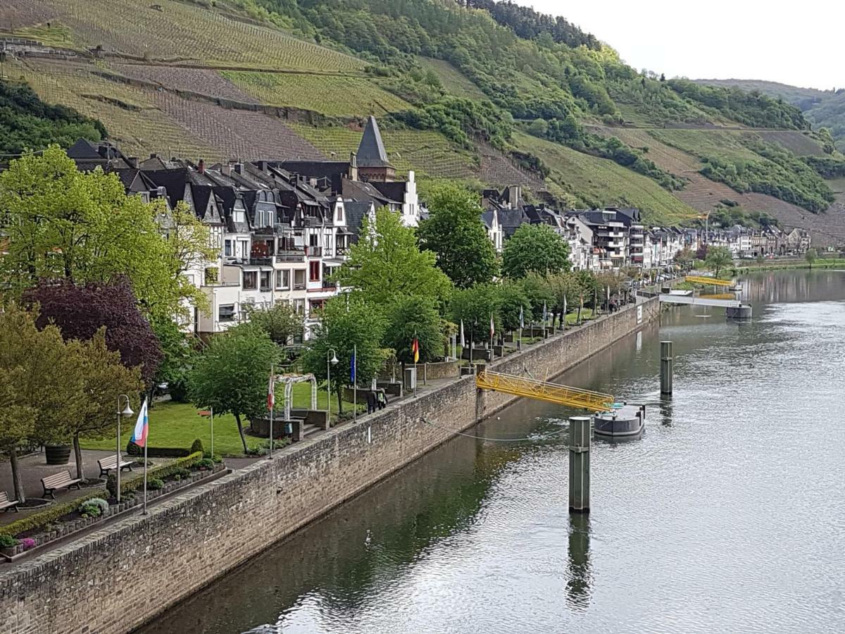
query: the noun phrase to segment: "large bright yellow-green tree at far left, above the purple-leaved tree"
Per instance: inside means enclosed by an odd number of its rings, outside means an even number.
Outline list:
[[[117,174],[79,172],[57,146],[11,161],[0,174],[0,225],[8,237],[0,282],[19,297],[41,279],[80,284],[128,276],[144,312],[183,314],[202,303],[183,272],[213,253],[209,230],[161,199],[127,196]]]

